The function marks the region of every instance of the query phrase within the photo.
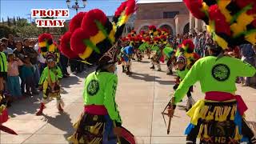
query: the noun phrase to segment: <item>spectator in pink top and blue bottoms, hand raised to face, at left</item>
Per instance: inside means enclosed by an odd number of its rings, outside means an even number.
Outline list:
[[[14,54],[8,54],[7,87],[14,99],[22,98],[22,90],[18,77],[18,66],[22,65],[23,62],[19,58],[14,58]]]

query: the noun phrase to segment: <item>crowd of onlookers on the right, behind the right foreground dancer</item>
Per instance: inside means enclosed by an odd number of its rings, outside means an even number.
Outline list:
[[[177,36],[170,37],[170,42],[174,47],[177,47],[182,43],[183,39],[191,39],[191,41],[194,42],[194,50],[201,58],[209,55],[208,49],[214,42],[213,39],[210,38],[210,34],[206,33],[206,31],[194,34],[177,34]],[[251,44],[228,49],[226,50],[226,55],[239,58],[243,62],[248,62],[250,65],[256,66],[256,46],[252,46]],[[250,86],[250,79],[251,78],[238,78],[237,82],[241,83],[242,86]]]

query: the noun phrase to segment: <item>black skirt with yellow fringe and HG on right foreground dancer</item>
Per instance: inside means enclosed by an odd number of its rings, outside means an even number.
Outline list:
[[[187,142],[200,138],[202,143],[239,143],[242,140],[242,116],[237,102],[201,100],[187,113],[191,118],[186,128]]]

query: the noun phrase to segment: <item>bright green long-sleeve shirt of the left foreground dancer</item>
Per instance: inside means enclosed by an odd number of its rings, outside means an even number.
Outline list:
[[[109,72],[93,72],[86,78],[83,98],[85,105],[104,105],[110,118],[122,123],[115,102],[118,77]]]

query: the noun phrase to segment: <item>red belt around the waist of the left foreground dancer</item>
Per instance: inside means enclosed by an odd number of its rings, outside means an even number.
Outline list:
[[[106,115],[107,110],[106,107],[103,105],[90,105],[90,106],[85,106],[84,110],[88,114],[95,114],[95,115]]]

